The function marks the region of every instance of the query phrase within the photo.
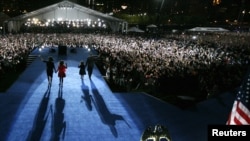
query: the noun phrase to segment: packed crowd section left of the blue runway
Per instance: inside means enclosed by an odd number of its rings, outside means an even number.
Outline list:
[[[33,50],[31,36],[25,34],[0,36],[0,78],[4,73],[25,68],[26,57]]]

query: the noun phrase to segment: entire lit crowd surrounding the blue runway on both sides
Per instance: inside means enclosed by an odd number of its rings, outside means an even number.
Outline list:
[[[239,86],[250,54],[250,33],[181,33],[163,37],[100,33],[8,34],[0,37],[1,75],[24,67],[29,53],[41,45],[91,47],[105,78],[126,90],[151,94],[167,90],[206,97]]]

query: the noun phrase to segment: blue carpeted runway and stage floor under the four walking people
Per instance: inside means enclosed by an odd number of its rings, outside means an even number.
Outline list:
[[[207,125],[225,124],[234,100],[225,93],[184,110],[145,93],[113,93],[97,67],[92,81],[81,81],[84,48],[64,56],[48,48],[32,54],[65,60],[67,77],[60,87],[54,74],[48,87],[45,64],[36,58],[0,95],[1,141],[139,141],[156,124],[167,127],[173,141],[206,141]]]

